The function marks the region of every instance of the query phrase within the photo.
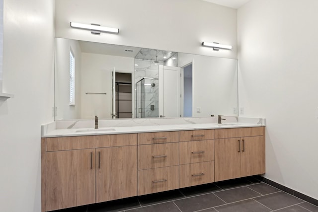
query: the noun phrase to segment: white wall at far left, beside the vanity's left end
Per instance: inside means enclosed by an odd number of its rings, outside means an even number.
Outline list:
[[[0,205],[41,211],[41,124],[53,121],[54,0],[5,0]]]

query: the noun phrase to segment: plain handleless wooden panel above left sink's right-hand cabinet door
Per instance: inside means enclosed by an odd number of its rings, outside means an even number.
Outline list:
[[[137,145],[137,133],[96,136],[96,148],[130,145]]]

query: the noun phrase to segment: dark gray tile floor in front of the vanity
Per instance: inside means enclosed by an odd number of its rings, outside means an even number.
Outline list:
[[[55,212],[318,212],[318,207],[248,177]]]

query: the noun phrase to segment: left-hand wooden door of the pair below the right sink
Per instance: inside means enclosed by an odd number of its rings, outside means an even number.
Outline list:
[[[216,182],[240,177],[240,151],[238,138],[214,140]]]

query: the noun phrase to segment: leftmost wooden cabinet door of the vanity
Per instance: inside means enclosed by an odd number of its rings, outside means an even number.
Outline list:
[[[95,203],[95,149],[46,154],[46,210]]]

